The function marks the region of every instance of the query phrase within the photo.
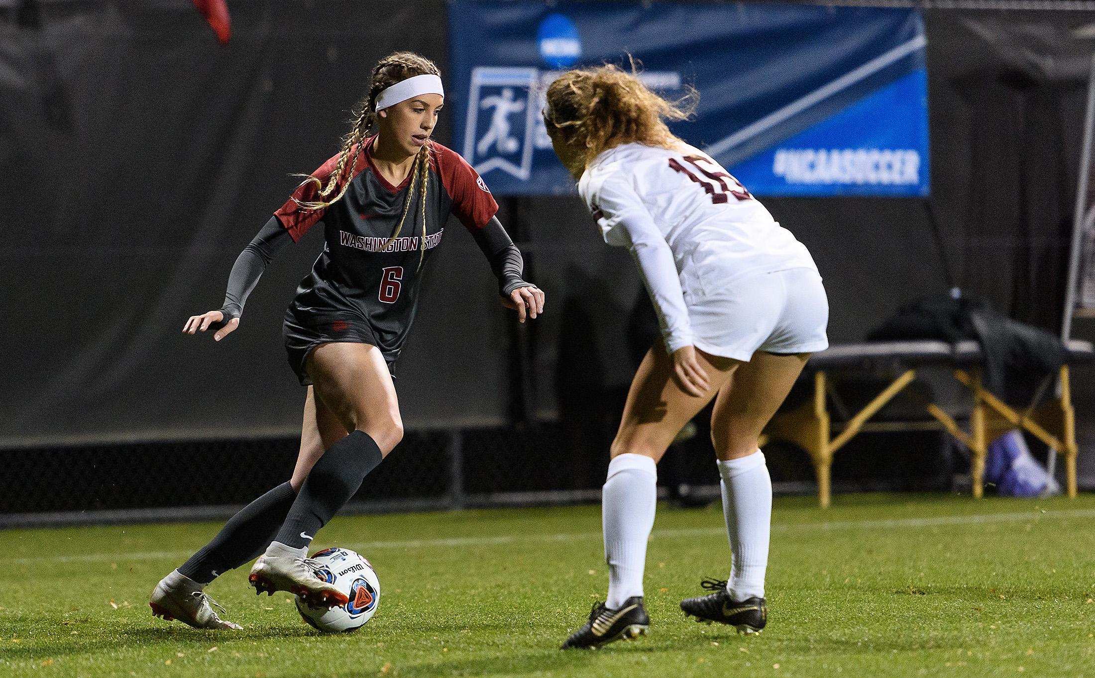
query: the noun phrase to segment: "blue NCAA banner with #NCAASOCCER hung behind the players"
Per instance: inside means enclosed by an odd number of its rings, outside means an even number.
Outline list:
[[[454,149],[496,195],[565,194],[544,91],[573,67],[642,61],[668,98],[700,91],[675,133],[761,196],[926,196],[919,11],[776,4],[453,0]]]

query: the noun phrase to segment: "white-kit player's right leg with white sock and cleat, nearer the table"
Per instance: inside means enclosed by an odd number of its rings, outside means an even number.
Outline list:
[[[708,578],[713,593],[681,601],[696,621],[716,621],[742,633],[768,623],[764,573],[772,523],[772,480],[757,446],[761,432],[791,393],[809,354],[758,351],[738,367],[715,399],[711,439],[722,476],[723,513],[730,541],[728,580]]]

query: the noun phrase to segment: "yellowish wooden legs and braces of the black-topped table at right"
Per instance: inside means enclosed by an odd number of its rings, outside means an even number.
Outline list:
[[[871,402],[849,419],[837,437],[831,436],[832,422],[827,407],[826,371],[814,374],[814,394],[809,402],[776,414],[761,436],[761,446],[772,440],[783,440],[802,447],[810,456],[818,481],[818,502],[822,508],[831,500],[831,469],[833,455],[858,434],[867,421],[878,410],[892,400],[917,376],[914,369],[908,369],[892,379]],[[935,402],[925,406],[927,413],[942,424],[970,451],[970,472],[973,480],[973,496],[980,499],[984,489],[984,463],[989,443],[1012,429],[1028,431],[1040,441],[1063,453],[1065,461],[1067,491],[1070,498],[1076,495],[1076,426],[1075,410],[1072,407],[1072,391],[1069,367],[1060,371],[1060,394],[1029,411],[1019,411],[989,393],[981,383],[980,370],[954,370],[954,376],[970,390],[973,407],[970,411],[970,430],[964,431],[943,408]]]

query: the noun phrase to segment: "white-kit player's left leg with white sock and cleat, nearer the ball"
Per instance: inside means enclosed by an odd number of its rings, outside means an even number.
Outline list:
[[[646,633],[649,618],[643,605],[643,572],[646,542],[654,527],[657,461],[739,364],[703,351],[696,353],[710,381],[702,396],[685,393],[677,383],[672,359],[660,341],[647,352],[635,374],[612,442],[601,498],[609,595],[603,604],[593,606],[589,621],[563,643],[564,650],[597,647]]]

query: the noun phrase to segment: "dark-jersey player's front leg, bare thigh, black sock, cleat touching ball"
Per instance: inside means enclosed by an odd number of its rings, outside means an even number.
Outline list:
[[[391,374],[376,347],[322,344],[312,352],[308,370],[318,404],[351,432],[314,461],[285,525],[249,580],[256,592],[288,591],[315,605],[345,605],[345,594],[316,576],[319,564],[307,558],[307,549],[315,531],[400,442],[403,425]],[[320,412],[316,406],[318,426],[330,424]]]

